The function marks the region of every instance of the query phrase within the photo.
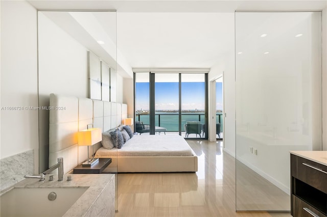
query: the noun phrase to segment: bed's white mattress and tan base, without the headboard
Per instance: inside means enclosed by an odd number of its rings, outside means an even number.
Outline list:
[[[198,160],[180,135],[134,135],[121,149],[101,147],[96,157],[112,157],[104,172],[196,172]]]

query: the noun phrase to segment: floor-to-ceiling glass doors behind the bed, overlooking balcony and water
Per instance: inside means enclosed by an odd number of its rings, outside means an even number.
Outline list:
[[[207,73],[135,72],[134,79],[135,131],[207,138]]]

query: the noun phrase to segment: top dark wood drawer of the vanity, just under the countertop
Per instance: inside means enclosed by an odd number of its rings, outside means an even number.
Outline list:
[[[292,176],[327,194],[327,167],[314,161],[292,156]],[[295,162],[294,162],[295,161]],[[295,168],[294,168],[295,165]]]

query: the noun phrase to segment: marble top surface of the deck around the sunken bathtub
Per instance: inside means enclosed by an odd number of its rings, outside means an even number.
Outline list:
[[[49,176],[50,175],[45,175],[44,181],[39,181],[39,179],[34,178],[22,180],[17,184],[2,191],[1,195],[6,193],[7,191],[10,191],[13,187],[88,187],[85,193],[63,215],[84,216],[84,214],[99,198],[105,187],[111,181],[115,181],[114,174],[65,174],[63,177],[63,181],[58,181],[58,175],[54,175],[54,181],[49,181]],[[71,176],[72,180],[67,181],[67,176]]]

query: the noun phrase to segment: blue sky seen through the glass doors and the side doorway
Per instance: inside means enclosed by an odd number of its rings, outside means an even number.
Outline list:
[[[222,110],[222,83],[216,83],[217,110]],[[204,82],[182,82],[182,110],[204,110]],[[136,83],[136,110],[149,110],[149,83]],[[155,110],[178,110],[178,82],[155,83]]]

